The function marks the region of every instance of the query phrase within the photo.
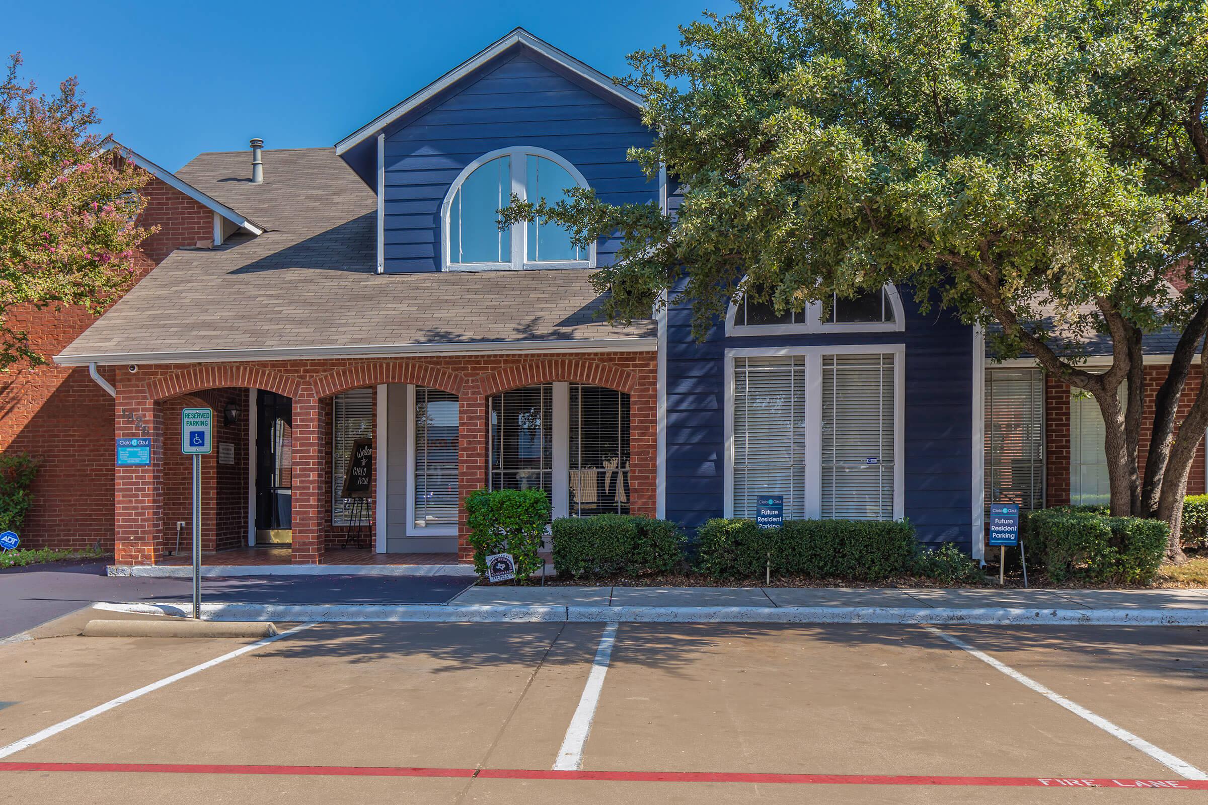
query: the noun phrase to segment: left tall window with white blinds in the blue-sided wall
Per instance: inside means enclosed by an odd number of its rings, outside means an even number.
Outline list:
[[[734,358],[733,384],[734,517],[755,517],[760,495],[784,495],[784,517],[805,518],[805,356]]]

